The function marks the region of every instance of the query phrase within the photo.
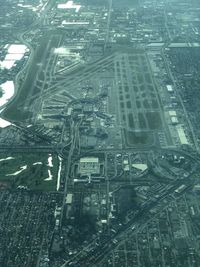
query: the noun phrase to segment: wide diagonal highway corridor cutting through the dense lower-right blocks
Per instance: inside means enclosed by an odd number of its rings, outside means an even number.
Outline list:
[[[112,236],[108,236],[105,238],[100,244],[97,246],[93,246],[97,240],[93,240],[92,243],[90,243],[84,252],[79,252],[76,254],[71,260],[66,261],[62,265],[62,267],[66,266],[73,266],[73,267],[82,267],[84,266],[92,267],[96,266],[97,263],[101,262],[105,256],[114,249],[117,245],[119,245],[120,241],[123,241],[123,237],[125,234],[128,234],[129,232],[132,234],[134,231],[137,230],[136,225],[144,226],[152,219],[152,214],[150,213],[151,210],[157,208],[163,200],[168,200],[165,203],[165,206],[169,204],[169,200],[173,200],[173,195],[176,189],[178,189],[182,184],[186,185],[186,189],[188,190],[193,185],[192,181],[186,177],[185,179],[177,178],[175,181],[171,183],[171,185],[168,187],[166,191],[162,191],[162,193],[157,197],[154,201],[148,201],[143,208],[141,208],[139,211],[137,211],[133,218],[130,219],[130,221],[123,225],[121,229],[118,230],[116,233],[112,233]],[[181,194],[183,194],[185,191],[179,193],[177,197],[180,197]],[[158,192],[159,194],[159,192]],[[164,208],[164,207],[163,207]],[[156,214],[157,215],[157,214]],[[134,227],[134,229],[133,229]],[[92,245],[93,244],[93,245]]]

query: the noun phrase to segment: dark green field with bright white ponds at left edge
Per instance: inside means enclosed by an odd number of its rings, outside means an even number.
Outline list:
[[[46,153],[0,154],[0,160],[8,157],[12,157],[13,159],[0,161],[0,182],[6,183],[11,188],[27,186],[30,190],[56,191],[59,165],[57,155],[52,155],[53,167],[48,166],[49,156]],[[37,162],[42,164],[35,165]],[[8,175],[20,171],[23,166],[27,166],[27,169],[17,175]],[[53,176],[52,180],[49,181],[45,180],[49,177],[48,170],[51,170]]]

